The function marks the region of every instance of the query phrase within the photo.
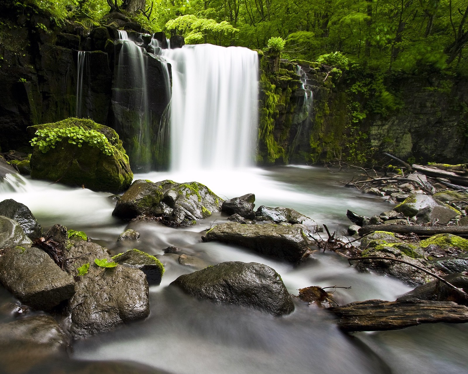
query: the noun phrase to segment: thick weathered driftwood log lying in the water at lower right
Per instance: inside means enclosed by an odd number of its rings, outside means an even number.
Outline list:
[[[327,308],[343,331],[397,330],[421,323],[465,323],[468,308],[453,301],[367,300]]]

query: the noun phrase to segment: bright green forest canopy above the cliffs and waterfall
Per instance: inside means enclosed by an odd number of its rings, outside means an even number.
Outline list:
[[[5,0],[1,1],[6,3]],[[284,41],[282,57],[317,61],[339,52],[368,71],[468,71],[466,0],[27,0],[57,23],[92,27],[115,10],[151,32],[186,43],[268,48]],[[274,39],[278,41],[278,39]]]

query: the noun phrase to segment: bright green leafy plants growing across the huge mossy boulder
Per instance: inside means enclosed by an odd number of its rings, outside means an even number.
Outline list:
[[[103,154],[111,155],[114,147],[104,134],[96,130],[86,130],[82,127],[71,126],[66,128],[45,128],[36,131],[36,137],[31,139],[33,147],[38,147],[43,153],[47,153],[55,144],[68,139],[68,143],[81,147],[83,143],[91,147],[99,148]]]

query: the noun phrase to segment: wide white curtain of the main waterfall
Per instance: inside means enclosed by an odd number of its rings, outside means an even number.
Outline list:
[[[172,66],[171,170],[253,165],[258,56],[211,44],[162,50]]]

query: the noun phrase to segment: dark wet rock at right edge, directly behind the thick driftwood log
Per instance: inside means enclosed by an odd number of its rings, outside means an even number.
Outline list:
[[[442,278],[468,293],[468,276],[466,274],[454,273],[445,275]],[[468,305],[466,294],[453,289],[439,279],[417,286],[397,300],[455,301],[457,304]]]

